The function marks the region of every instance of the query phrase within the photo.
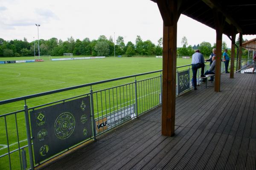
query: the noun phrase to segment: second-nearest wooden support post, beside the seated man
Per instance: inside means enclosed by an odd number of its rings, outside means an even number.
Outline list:
[[[215,84],[214,91],[219,92],[221,88],[221,58],[222,58],[222,32],[223,24],[225,21],[224,16],[218,12],[217,9],[213,9],[216,29],[216,65],[215,65]]]

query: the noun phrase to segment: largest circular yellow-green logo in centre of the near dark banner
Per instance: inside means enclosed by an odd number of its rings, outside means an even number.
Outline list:
[[[67,139],[74,132],[74,129],[74,116],[70,112],[61,113],[54,124],[54,132],[57,138]]]

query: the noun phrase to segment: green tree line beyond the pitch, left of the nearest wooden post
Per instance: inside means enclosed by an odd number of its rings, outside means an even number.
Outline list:
[[[35,43],[35,55],[38,55],[38,40],[28,42],[26,38],[23,40],[6,41],[0,38],[0,56],[1,57],[18,57],[33,56]],[[124,38],[118,36],[116,45],[113,38],[107,39],[105,35],[100,35],[98,40],[84,40],[67,38],[66,41],[51,38],[49,40],[39,40],[40,55],[61,56],[63,53],[73,53],[74,55],[92,55],[92,56],[109,56],[114,55],[162,55],[163,54],[163,38],[158,40],[155,45],[150,40],[143,41],[137,35],[135,44],[129,41],[124,43]]]

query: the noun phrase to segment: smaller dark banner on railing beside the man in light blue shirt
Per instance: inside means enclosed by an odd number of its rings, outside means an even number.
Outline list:
[[[189,70],[178,72],[178,94],[189,89]]]

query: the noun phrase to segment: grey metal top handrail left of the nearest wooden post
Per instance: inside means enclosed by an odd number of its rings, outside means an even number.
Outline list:
[[[97,82],[93,82],[93,83],[82,84],[82,85],[67,87],[67,88],[63,88],[63,89],[57,89],[57,90],[52,90],[52,91],[48,91],[48,92],[41,92],[41,93],[37,93],[37,94],[33,94],[33,95],[26,95],[26,96],[18,97],[18,98],[12,98],[12,99],[8,99],[8,100],[0,101],[0,105],[1,104],[12,103],[12,102],[15,102],[15,101],[22,101],[22,100],[26,100],[26,99],[29,99],[29,98],[40,97],[40,96],[43,96],[43,95],[50,95],[50,94],[54,94],[54,93],[58,93],[58,92],[64,92],[64,91],[67,91],[67,90],[78,89],[78,88],[87,87],[87,86],[93,86],[93,85],[96,85],[96,84],[108,83],[108,82],[111,82],[111,81],[117,81],[117,80],[122,80],[122,79],[126,79],[126,78],[137,77],[137,76],[141,76],[141,75],[148,75],[148,74],[157,73],[157,72],[162,72],[162,70],[157,70],[157,71],[154,71],[154,72],[145,72],[145,73],[140,73],[140,74],[137,74],[137,75],[128,75],[128,76],[120,77],[120,78],[113,78],[113,79],[104,80],[104,81],[97,81]]]

